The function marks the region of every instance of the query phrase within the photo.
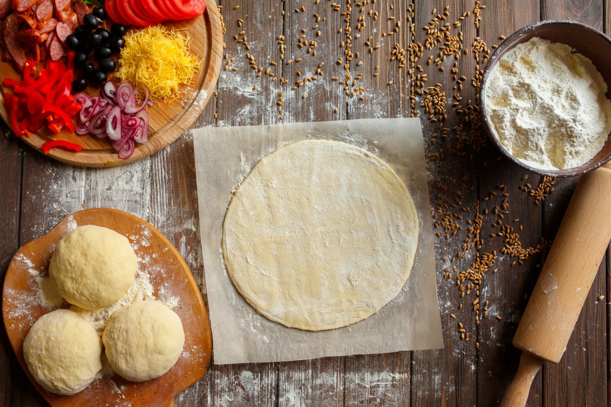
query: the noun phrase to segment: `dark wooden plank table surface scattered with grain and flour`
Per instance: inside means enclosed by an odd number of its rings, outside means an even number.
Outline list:
[[[477,113],[481,70],[503,36],[535,21],[580,21],[608,34],[609,0],[220,5],[227,68],[196,126],[420,117],[445,348],[211,365],[176,405],[499,405],[517,369],[520,352],[511,339],[540,272],[540,252],[554,239],[577,179],[541,178],[488,145]],[[135,164],[93,169],[56,162],[2,130],[2,275],[18,247],[60,218],[114,207],[163,232],[206,298],[190,132]],[[483,259],[494,253],[485,270]],[[457,284],[460,276],[476,281]],[[610,278],[607,256],[562,361],[544,364],[529,406],[609,405]],[[0,406],[44,405],[5,332],[0,336]]]

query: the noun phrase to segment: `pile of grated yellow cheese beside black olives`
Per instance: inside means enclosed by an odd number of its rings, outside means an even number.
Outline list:
[[[124,38],[115,76],[148,87],[152,101],[171,102],[178,98],[181,84],[192,83],[199,62],[189,53],[188,35],[158,25],[130,32]]]

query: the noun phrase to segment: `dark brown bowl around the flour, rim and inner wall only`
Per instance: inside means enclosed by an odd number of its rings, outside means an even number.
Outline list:
[[[588,27],[585,24],[576,23],[574,21],[564,20],[548,20],[540,21],[538,23],[530,24],[510,35],[505,41],[503,41],[499,48],[497,48],[492,56],[489,58],[488,63],[484,71],[484,76],[481,81],[480,88],[480,115],[481,123],[486,132],[488,132],[489,138],[492,143],[496,145],[500,151],[505,154],[510,160],[515,162],[527,170],[540,175],[554,176],[554,177],[568,177],[574,175],[582,175],[588,171],[594,170],[600,167],[611,159],[611,133],[607,136],[607,141],[594,157],[588,162],[579,167],[567,168],[566,170],[542,170],[541,168],[530,167],[524,164],[524,162],[518,160],[512,156],[505,147],[499,142],[496,135],[492,131],[491,124],[486,115],[486,82],[488,81],[488,73],[493,67],[499,62],[505,52],[513,49],[516,45],[524,43],[532,37],[540,37],[552,42],[563,43],[576,52],[579,52],[583,56],[587,57],[592,61],[596,70],[602,74],[602,78],[607,84],[607,98],[611,96],[611,38],[602,34],[592,27]]]

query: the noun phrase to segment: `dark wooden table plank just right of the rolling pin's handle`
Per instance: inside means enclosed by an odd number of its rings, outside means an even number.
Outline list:
[[[607,8],[608,10],[608,8]],[[570,1],[544,1],[542,2],[541,16],[544,19],[564,19],[585,23],[596,29],[602,29],[604,24],[603,2],[570,2]],[[564,213],[568,200],[574,189],[576,180],[562,180],[558,182],[557,190],[562,195],[552,195],[559,201],[550,200],[549,209],[555,216],[549,217],[546,213],[544,228],[555,231],[558,215]],[[603,264],[606,264],[604,262]],[[544,402],[549,406],[571,405],[606,405],[607,395],[600,389],[607,386],[607,358],[601,357],[601,351],[606,347],[607,315],[604,303],[598,303],[598,296],[604,295],[606,270],[599,271],[593,283],[590,295],[584,304],[582,314],[577,320],[573,336],[566,347],[565,355],[560,363],[545,364]],[[608,273],[608,271],[607,271]],[[603,329],[593,329],[599,326]],[[580,391],[576,391],[580,389]]]

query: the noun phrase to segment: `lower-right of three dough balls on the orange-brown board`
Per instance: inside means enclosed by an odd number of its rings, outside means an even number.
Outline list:
[[[185,344],[180,317],[157,301],[115,311],[102,334],[112,369],[131,381],[154,379],[178,360]]]

